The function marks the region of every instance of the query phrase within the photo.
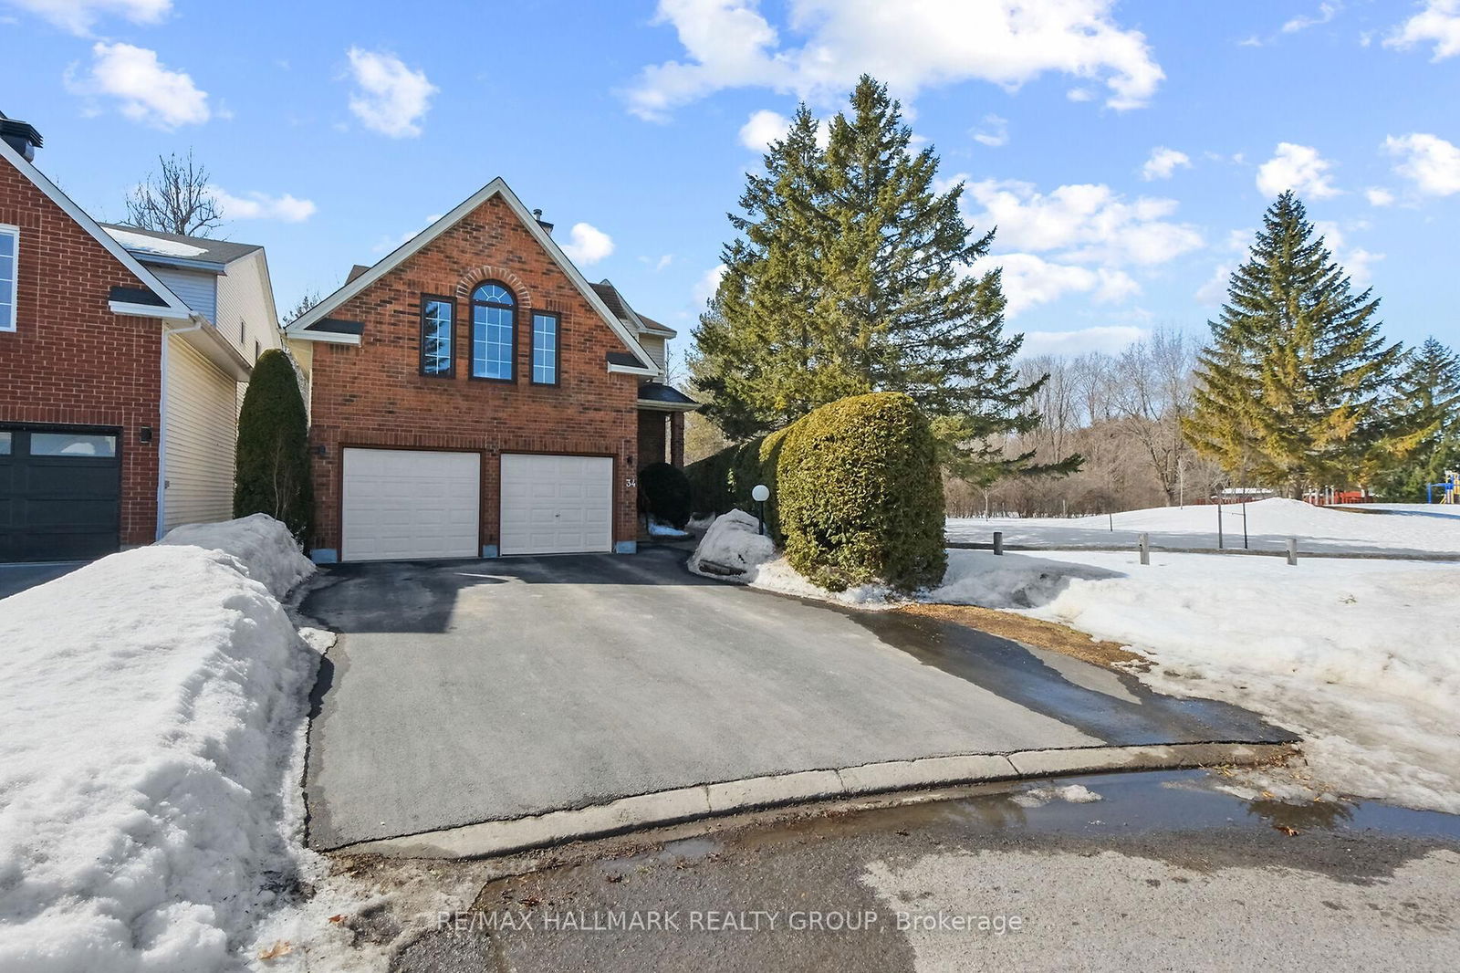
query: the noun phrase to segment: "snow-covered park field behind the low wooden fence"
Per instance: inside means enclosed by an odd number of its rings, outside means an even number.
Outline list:
[[[1282,551],[1288,538],[1298,538],[1302,551],[1350,554],[1450,554],[1460,552],[1460,510],[1435,504],[1372,504],[1384,513],[1358,508],[1324,508],[1298,500],[1260,500],[1247,504],[1248,543],[1256,551]],[[949,517],[950,542],[990,543],[1002,530],[1004,543],[1029,548],[1134,546],[1140,533],[1150,543],[1168,548],[1216,548],[1216,507],[1156,507],[1130,510],[1111,517]],[[1445,513],[1438,513],[1445,511]],[[1394,516],[1429,514],[1429,516]],[[1114,523],[1114,532],[1111,530]],[[1225,546],[1242,546],[1241,504],[1222,507]]]

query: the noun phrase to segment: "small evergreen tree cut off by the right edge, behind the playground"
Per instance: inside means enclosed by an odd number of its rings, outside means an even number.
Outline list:
[[[1399,402],[1422,438],[1403,463],[1375,478],[1384,500],[1422,501],[1425,487],[1460,469],[1460,355],[1434,337],[1405,356]]]

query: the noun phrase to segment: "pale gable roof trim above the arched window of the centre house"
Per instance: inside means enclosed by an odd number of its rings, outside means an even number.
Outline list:
[[[638,337],[634,335],[634,332],[631,332],[629,327],[623,321],[620,321],[619,317],[612,310],[609,310],[609,307],[603,302],[603,298],[584,279],[578,267],[572,266],[572,260],[569,260],[568,256],[562,251],[562,248],[558,247],[558,243],[552,238],[552,235],[546,229],[543,229],[543,226],[537,222],[537,219],[533,218],[530,212],[527,212],[527,207],[523,206],[523,200],[517,199],[517,193],[511,190],[511,187],[502,180],[502,177],[496,177],[482,188],[479,188],[476,193],[461,200],[450,213],[447,213],[437,222],[431,224],[429,226],[422,229],[419,234],[416,234],[402,245],[396,247],[393,251],[385,254],[385,257],[383,257],[374,266],[371,266],[369,270],[352,278],[350,281],[346,281],[343,286],[334,291],[334,294],[328,295],[327,298],[311,307],[308,311],[296,317],[292,323],[289,323],[289,326],[283,329],[285,335],[304,339],[323,337],[318,330],[314,330],[314,333],[311,333],[314,324],[328,318],[330,314],[336,311],[342,304],[362,294],[372,283],[375,283],[383,276],[385,276],[387,273],[399,267],[402,263],[409,260],[412,256],[415,256],[418,251],[420,251],[432,240],[444,234],[451,226],[456,226],[467,215],[476,212],[476,209],[480,207],[482,203],[492,199],[493,196],[502,197],[507,206],[517,216],[518,222],[521,222],[523,226],[527,228],[527,232],[533,235],[533,240],[537,241],[537,245],[540,245],[552,259],[552,262],[556,263],[558,267],[568,276],[568,281],[572,282],[574,288],[578,289],[578,292],[588,302],[588,305],[594,311],[597,311],[599,317],[603,318],[603,323],[607,324],[615,335],[618,335],[619,340],[623,342],[625,348],[628,348],[628,351],[632,352],[639,362],[650,361],[648,352],[645,352],[639,346]],[[359,343],[359,336],[342,339],[339,332],[327,332],[326,335],[328,336],[323,337],[323,340],[336,340],[336,342],[346,340],[347,343]],[[632,374],[654,374],[654,370],[642,367],[632,368],[631,365],[610,364],[609,370],[631,371]]]

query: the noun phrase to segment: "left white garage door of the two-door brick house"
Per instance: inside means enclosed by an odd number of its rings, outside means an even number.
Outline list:
[[[479,453],[345,450],[342,561],[474,558]]]

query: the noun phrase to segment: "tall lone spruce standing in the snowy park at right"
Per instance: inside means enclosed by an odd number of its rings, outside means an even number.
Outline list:
[[[1229,476],[1289,495],[1362,485],[1412,450],[1421,431],[1393,397],[1402,349],[1380,335],[1377,311],[1302,203],[1279,196],[1210,323],[1184,424],[1191,446]]]

